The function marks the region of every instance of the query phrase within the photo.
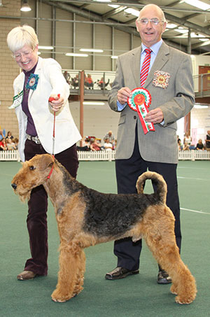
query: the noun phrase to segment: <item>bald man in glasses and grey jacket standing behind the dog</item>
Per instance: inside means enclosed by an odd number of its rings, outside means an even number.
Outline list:
[[[116,148],[116,178],[118,193],[134,193],[137,178],[144,171],[156,171],[167,182],[167,205],[176,218],[176,244],[181,248],[180,208],[176,167],[178,147],[176,120],[185,116],[194,104],[192,64],[190,56],[167,46],[162,41],[166,28],[162,10],[148,4],[140,11],[136,21],[141,36],[141,46],[118,57],[116,78],[109,93],[109,106],[121,111]],[[140,71],[151,48],[151,62],[144,85]],[[127,104],[132,90],[144,87],[151,94],[151,105],[145,117],[155,131],[144,133],[137,112]],[[155,185],[153,185],[155,188]],[[139,273],[141,240],[115,241],[114,253],[118,257],[116,269],[106,274],[106,279],[122,279]],[[159,266],[158,283],[171,283],[172,279]]]

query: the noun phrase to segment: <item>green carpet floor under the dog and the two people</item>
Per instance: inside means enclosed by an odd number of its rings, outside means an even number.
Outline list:
[[[197,280],[197,297],[190,305],[174,302],[170,286],[156,283],[157,264],[144,244],[140,274],[120,281],[106,281],[104,274],[116,267],[113,243],[85,250],[84,290],[69,302],[52,302],[57,283],[59,238],[54,211],[48,210],[48,276],[18,281],[16,275],[29,258],[26,229],[27,204],[10,187],[18,162],[0,162],[0,316],[1,317],[172,317],[210,316],[210,162],[181,161],[178,167],[183,244],[181,257]],[[102,192],[116,192],[114,162],[80,162],[78,181]],[[146,192],[151,184],[146,185]]]

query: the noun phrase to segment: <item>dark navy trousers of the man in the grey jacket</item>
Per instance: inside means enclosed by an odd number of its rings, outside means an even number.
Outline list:
[[[180,207],[176,178],[177,164],[147,162],[139,153],[138,138],[136,137],[134,152],[128,160],[116,160],[116,177],[118,193],[136,193],[136,183],[139,175],[147,169],[161,174],[167,183],[167,206],[174,213],[176,244],[181,249]],[[153,186],[155,190],[155,186]],[[114,254],[118,257],[118,267],[125,269],[139,269],[141,240],[132,242],[132,239],[121,239],[114,243]]]

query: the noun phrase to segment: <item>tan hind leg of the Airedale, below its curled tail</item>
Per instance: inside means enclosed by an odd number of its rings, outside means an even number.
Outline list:
[[[156,212],[146,213],[141,232],[155,259],[172,277],[171,291],[177,295],[176,302],[190,304],[197,292],[195,279],[180,258],[174,235],[174,217],[167,207],[162,211],[158,210],[158,206],[156,208],[153,207]]]

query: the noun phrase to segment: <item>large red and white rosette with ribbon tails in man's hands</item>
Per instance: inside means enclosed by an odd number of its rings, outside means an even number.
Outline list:
[[[127,104],[134,111],[137,111],[141,125],[144,130],[144,134],[149,131],[155,131],[155,127],[152,122],[146,122],[144,118],[148,113],[148,107],[151,104],[151,94],[145,88],[139,87],[132,90],[132,97],[127,98]]]

